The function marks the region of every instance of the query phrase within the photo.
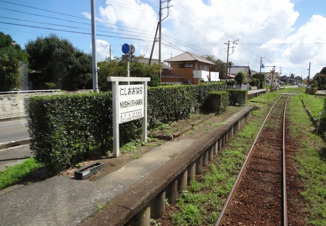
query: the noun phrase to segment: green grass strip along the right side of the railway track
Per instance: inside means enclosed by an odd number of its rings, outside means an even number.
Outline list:
[[[290,99],[288,118],[291,136],[299,141],[296,161],[304,186],[302,196],[308,203],[306,208],[310,213],[306,224],[326,225],[326,147],[320,137],[312,134],[313,127],[299,98],[301,96]],[[318,105],[317,98],[310,100],[312,105]]]

